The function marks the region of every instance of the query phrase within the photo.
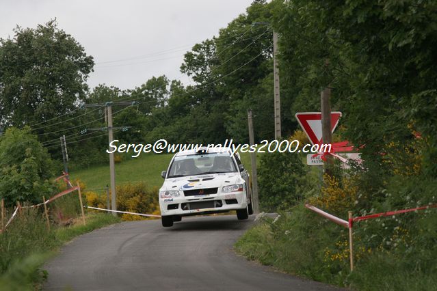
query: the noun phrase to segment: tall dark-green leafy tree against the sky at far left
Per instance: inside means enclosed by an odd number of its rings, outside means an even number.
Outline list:
[[[16,27],[14,33],[0,40],[0,125],[70,115],[85,98],[92,57],[55,20],[36,29]],[[44,125],[55,122],[59,119]]]

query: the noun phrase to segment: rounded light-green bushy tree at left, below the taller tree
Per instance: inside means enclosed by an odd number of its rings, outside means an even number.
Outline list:
[[[50,195],[53,161],[29,127],[8,128],[0,139],[0,197],[8,206]]]

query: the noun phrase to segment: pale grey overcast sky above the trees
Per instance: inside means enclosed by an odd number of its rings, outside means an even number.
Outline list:
[[[88,84],[133,89],[153,76],[188,83],[179,72],[191,46],[217,36],[252,0],[1,0],[0,37],[56,18],[94,57]]]

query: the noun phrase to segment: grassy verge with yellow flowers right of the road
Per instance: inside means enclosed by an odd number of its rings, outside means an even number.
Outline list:
[[[276,221],[261,219],[237,241],[235,251],[293,275],[354,290],[434,290],[435,254],[419,238],[411,244],[370,249],[358,238],[351,273],[347,229],[297,206]]]

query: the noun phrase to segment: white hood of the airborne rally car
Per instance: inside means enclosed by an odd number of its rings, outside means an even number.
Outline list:
[[[161,187],[161,191],[215,188],[226,185],[241,184],[242,182],[243,179],[239,173],[186,176],[166,179]]]

